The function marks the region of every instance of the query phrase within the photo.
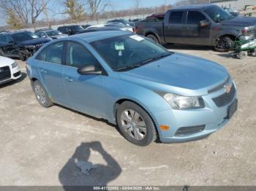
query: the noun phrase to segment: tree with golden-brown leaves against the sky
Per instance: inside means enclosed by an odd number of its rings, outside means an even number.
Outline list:
[[[77,21],[85,15],[83,4],[79,0],[64,0],[64,14],[68,14],[71,20]]]

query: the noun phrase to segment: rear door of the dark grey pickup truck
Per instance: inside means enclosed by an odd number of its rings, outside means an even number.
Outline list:
[[[183,43],[184,11],[171,11],[165,17],[165,42]]]

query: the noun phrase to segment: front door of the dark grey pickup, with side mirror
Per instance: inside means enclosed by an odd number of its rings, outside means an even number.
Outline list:
[[[206,16],[199,11],[188,11],[186,15],[187,19],[184,24],[184,41],[186,44],[209,44],[211,24],[200,26],[201,21],[208,21]]]

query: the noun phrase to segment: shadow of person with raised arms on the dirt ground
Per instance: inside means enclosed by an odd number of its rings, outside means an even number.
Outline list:
[[[105,160],[106,165],[94,164],[94,161],[89,161],[91,152],[98,152]],[[84,169],[80,168],[80,164],[87,165],[86,169],[91,169],[87,171],[88,174],[83,172]],[[83,186],[107,186],[110,181],[116,179],[120,174],[121,166],[105,151],[99,141],[82,142],[67,160],[64,167],[61,168],[59,181],[66,191],[78,190],[78,187],[83,188]],[[86,190],[86,188],[83,188],[83,190]]]

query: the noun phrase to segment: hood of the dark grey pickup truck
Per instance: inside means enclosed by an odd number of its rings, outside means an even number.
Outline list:
[[[233,25],[233,26],[255,26],[256,25],[256,17],[238,16],[238,17],[234,17],[230,20],[223,20],[222,24]]]

